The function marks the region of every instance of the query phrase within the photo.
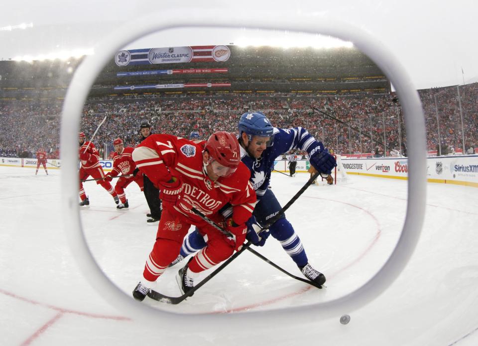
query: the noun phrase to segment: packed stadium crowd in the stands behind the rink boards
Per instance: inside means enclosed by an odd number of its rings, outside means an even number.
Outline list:
[[[434,153],[440,142],[442,151],[461,152],[462,115],[466,147],[478,146],[478,83],[418,93],[429,153]],[[43,147],[49,158],[57,158],[61,107],[61,101],[0,101],[0,156],[33,157]],[[99,147],[111,146],[116,137],[121,137],[125,145],[136,145],[138,125],[143,120],[149,121],[156,133],[187,136],[196,130],[205,139],[217,130],[236,132],[239,115],[247,110],[263,112],[277,127],[303,126],[336,153],[378,154],[384,151],[383,143],[389,151],[398,150],[400,142],[402,153],[406,150],[400,101],[388,94],[95,97],[85,104],[81,130],[91,136],[107,115],[94,139]]]

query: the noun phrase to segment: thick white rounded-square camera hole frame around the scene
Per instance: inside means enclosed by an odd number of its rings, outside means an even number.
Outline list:
[[[247,312],[241,314],[176,314],[139,303],[114,285],[94,260],[86,242],[78,206],[78,132],[84,103],[96,76],[115,54],[126,44],[145,35],[177,28],[249,28],[288,30],[311,34],[330,35],[351,41],[370,57],[392,82],[400,98],[405,116],[408,150],[408,201],[403,230],[396,247],[381,269],[363,286],[341,298],[287,309]],[[95,54],[88,56],[78,67],[65,98],[61,125],[62,154],[62,206],[64,227],[70,247],[84,275],[93,287],[113,306],[120,308],[130,317],[150,321],[161,328],[176,328],[188,324],[188,330],[204,331],[214,326],[216,330],[228,327],[245,328],[252,320],[261,324],[290,322],[314,322],[325,318],[339,317],[350,313],[378,297],[405,267],[420,236],[425,213],[426,197],[426,143],[425,122],[420,99],[407,73],[382,44],[369,33],[348,23],[322,14],[299,15],[294,13],[268,13],[266,16],[254,11],[244,15],[231,11],[163,11],[127,23],[122,29],[110,34],[100,42]],[[146,254],[145,254],[146,256]],[[138,268],[138,276],[141,275]],[[131,290],[136,282],[131,282]],[[218,291],[221,287],[218,287]],[[194,299],[194,298],[192,298]],[[293,315],[292,315],[293,314]],[[266,322],[267,321],[267,322]]]

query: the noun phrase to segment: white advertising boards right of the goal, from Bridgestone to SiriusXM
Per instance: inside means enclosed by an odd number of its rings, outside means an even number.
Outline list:
[[[407,158],[342,159],[348,174],[407,179]],[[434,183],[478,187],[478,155],[427,158],[427,179]]]

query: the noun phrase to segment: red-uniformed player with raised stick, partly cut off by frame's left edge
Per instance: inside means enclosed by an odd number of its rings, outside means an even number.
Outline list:
[[[96,181],[97,184],[103,186],[103,188],[108,191],[110,195],[113,196],[115,199],[115,203],[119,203],[119,198],[115,192],[113,186],[111,186],[110,182],[104,180],[105,173],[103,172],[103,168],[100,165],[100,156],[98,155],[98,150],[96,150],[95,145],[85,140],[85,134],[80,132],[78,137],[78,142],[80,143],[80,160],[81,160],[81,167],[80,167],[80,206],[89,206],[90,200],[85,194],[85,190],[83,189],[82,180],[86,180],[90,175],[95,178],[99,179]],[[86,152],[85,152],[86,149]]]

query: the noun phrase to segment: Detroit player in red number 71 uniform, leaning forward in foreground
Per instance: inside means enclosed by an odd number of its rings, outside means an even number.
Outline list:
[[[133,151],[137,167],[160,190],[163,211],[156,242],[146,260],[143,278],[133,291],[142,301],[154,281],[177,257],[191,225],[207,236],[207,246],[179,270],[180,289],[189,292],[197,273],[229,258],[245,240],[245,222],[256,197],[249,170],[240,161],[239,142],[229,132],[215,132],[207,142],[193,142],[169,134],[153,134]],[[233,216],[224,220],[218,211],[233,205]],[[228,238],[191,211],[202,212],[235,235]]]

